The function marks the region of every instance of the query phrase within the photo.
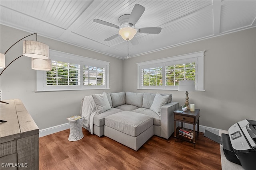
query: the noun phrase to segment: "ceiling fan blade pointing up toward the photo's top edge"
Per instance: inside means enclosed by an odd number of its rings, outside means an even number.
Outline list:
[[[142,16],[143,12],[145,11],[144,6],[141,6],[139,4],[135,4],[135,6],[132,9],[132,13],[130,14],[128,23],[129,26],[132,27],[137,23],[137,21],[140,19]]]

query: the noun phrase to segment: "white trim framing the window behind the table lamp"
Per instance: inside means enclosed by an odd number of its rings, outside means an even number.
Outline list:
[[[165,68],[166,65],[173,65],[173,64],[181,64],[183,62],[195,62],[196,63],[196,91],[204,91],[204,52],[199,51],[196,53],[189,53],[184,55],[178,55],[174,57],[167,57],[164,59],[157,59],[152,61],[146,61],[142,63],[137,63],[138,66],[138,89],[158,89],[158,90],[178,90],[178,86],[165,86],[163,83],[162,86],[142,86],[141,85],[141,70],[144,68],[152,68],[156,66],[162,66]],[[165,80],[165,69],[162,69],[162,78]]]

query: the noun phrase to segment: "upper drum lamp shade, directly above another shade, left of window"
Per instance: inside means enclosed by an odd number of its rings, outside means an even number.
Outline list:
[[[38,41],[25,40],[23,55],[36,59],[49,59],[49,46]]]

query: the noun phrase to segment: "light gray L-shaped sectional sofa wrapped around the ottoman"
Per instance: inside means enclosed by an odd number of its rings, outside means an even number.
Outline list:
[[[174,132],[173,111],[178,109],[179,104],[172,101],[172,94],[104,92],[92,95],[92,97],[97,109],[97,113],[93,117],[93,133],[99,137],[104,135],[105,118],[122,111],[131,111],[152,117],[154,135],[168,139]],[[164,98],[167,100],[165,101]],[[81,106],[83,106],[83,101]],[[84,125],[83,127],[86,128]]]

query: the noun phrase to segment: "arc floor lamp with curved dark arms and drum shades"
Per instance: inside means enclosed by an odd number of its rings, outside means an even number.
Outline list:
[[[5,55],[6,53],[18,42],[20,42],[22,39],[29,37],[31,35],[36,34],[36,41],[32,40],[24,40],[23,41],[23,54],[16,59],[14,59],[12,62],[10,62],[7,66],[5,66]],[[14,43],[4,54],[0,53],[0,69],[6,70],[6,68],[12,64],[14,61],[22,57],[23,55],[26,57],[31,57],[31,67],[34,70],[52,70],[52,60],[49,59],[49,46],[38,42],[37,41],[37,33],[32,33],[26,37],[23,37],[22,39],[18,40],[16,43]],[[2,73],[0,73],[0,76]],[[6,103],[3,101],[0,101],[2,103]],[[6,103],[8,104],[8,103]],[[3,120],[1,120],[3,122]]]

